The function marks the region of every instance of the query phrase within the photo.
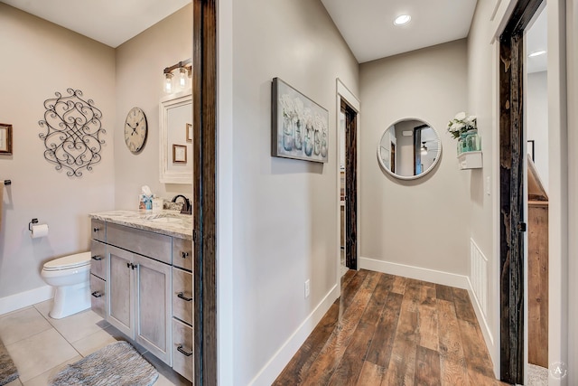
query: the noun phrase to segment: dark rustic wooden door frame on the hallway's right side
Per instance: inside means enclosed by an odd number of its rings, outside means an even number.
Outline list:
[[[500,380],[524,383],[524,32],[543,0],[518,0],[499,37]]]

